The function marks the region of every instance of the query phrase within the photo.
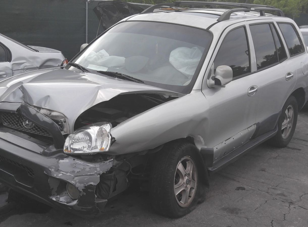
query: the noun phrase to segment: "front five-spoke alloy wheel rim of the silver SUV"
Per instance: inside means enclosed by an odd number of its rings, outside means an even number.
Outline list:
[[[189,156],[183,157],[176,167],[174,176],[174,195],[181,207],[187,207],[196,195],[198,184],[197,166]]]

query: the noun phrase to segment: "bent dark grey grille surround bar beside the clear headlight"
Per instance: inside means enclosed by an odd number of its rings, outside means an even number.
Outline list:
[[[45,116],[44,114],[40,113],[33,107],[29,106],[26,103],[21,103],[19,110],[17,110],[21,115],[25,116],[31,122],[39,125],[40,127],[44,128],[48,132],[50,132],[53,140],[55,148],[61,149],[64,146],[64,137],[58,127],[58,125]]]

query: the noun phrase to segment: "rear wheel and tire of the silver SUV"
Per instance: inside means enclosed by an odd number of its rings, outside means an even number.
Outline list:
[[[291,112],[293,112],[291,114]],[[275,147],[286,147],[293,137],[298,116],[297,100],[290,96],[282,107],[281,115],[278,119],[278,132],[269,140]]]

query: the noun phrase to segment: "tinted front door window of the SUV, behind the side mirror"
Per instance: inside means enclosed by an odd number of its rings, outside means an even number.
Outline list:
[[[250,72],[249,49],[244,27],[227,34],[214,60],[214,68],[220,65],[230,66],[233,78]]]

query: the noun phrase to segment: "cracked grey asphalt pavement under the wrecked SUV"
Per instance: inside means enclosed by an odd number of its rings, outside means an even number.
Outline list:
[[[286,148],[261,144],[210,176],[204,203],[170,219],[153,213],[148,194],[130,192],[107,205],[101,217],[83,219],[27,201],[6,204],[0,186],[0,227],[55,226],[308,226],[308,109],[298,116]]]

